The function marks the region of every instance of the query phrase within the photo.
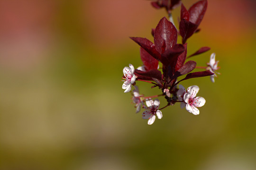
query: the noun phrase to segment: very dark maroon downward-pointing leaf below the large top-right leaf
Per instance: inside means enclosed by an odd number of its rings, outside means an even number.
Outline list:
[[[193,24],[190,21],[187,21],[185,19],[182,19],[180,22],[180,34],[183,38],[182,43],[186,43],[187,39],[194,34],[196,31],[198,25]]]

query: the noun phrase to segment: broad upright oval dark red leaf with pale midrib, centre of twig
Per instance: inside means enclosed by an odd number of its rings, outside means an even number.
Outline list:
[[[155,50],[160,54],[172,48],[177,43],[177,30],[175,26],[163,17],[155,28]]]

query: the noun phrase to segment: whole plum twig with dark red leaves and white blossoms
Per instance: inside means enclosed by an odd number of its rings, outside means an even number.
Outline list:
[[[186,9],[181,0],[154,0],[151,2],[155,8],[165,8],[169,20],[163,17],[157,26],[151,30],[154,42],[146,38],[130,37],[140,46],[140,58],[143,65],[134,68],[132,64],[123,69],[123,85],[125,93],[132,92],[132,101],[136,107],[136,113],[141,108],[143,119],[148,119],[148,124],[152,125],[155,118],[162,119],[162,111],[168,106],[180,103],[181,108],[188,112],[198,115],[199,109],[205,104],[203,97],[197,96],[199,87],[191,85],[187,89],[180,83],[191,78],[210,76],[210,80],[219,74],[219,61],[215,61],[215,53],[210,55],[210,62],[206,66],[197,66],[191,57],[210,50],[210,47],[201,47],[199,50],[187,55],[187,40],[195,33],[207,9],[207,0],[200,0]],[[179,25],[174,25],[172,11],[181,5]],[[178,36],[181,43],[178,43]],[[203,71],[193,71],[194,69],[204,69]],[[139,93],[137,81],[151,84],[151,88],[158,87],[160,94],[154,96],[144,96]],[[134,87],[134,90],[132,88]],[[163,96],[167,102],[164,107],[159,108],[160,101],[156,97]],[[153,100],[155,98],[155,100]]]

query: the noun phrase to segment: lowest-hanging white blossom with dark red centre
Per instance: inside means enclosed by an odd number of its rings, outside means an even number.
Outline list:
[[[147,108],[143,107],[146,110],[142,113],[142,119],[148,119],[148,125],[152,125],[154,123],[155,115],[158,119],[162,119],[162,112],[157,110],[160,105],[160,101],[158,99],[155,99],[154,102],[152,99],[146,99],[146,105]]]

